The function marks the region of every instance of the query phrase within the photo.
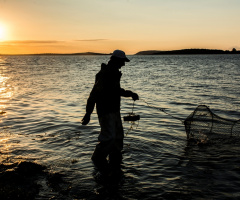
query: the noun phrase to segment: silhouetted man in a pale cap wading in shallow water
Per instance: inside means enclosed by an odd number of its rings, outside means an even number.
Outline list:
[[[134,101],[139,99],[136,93],[124,90],[120,86],[122,73],[119,69],[129,61],[123,51],[115,50],[108,64],[102,64],[87,100],[86,114],[82,119],[83,125],[89,123],[96,104],[101,132],[98,136],[99,143],[92,155],[92,161],[103,175],[120,169],[122,162],[124,133],[120,115],[121,96],[132,97]]]

